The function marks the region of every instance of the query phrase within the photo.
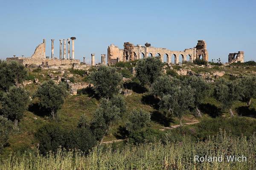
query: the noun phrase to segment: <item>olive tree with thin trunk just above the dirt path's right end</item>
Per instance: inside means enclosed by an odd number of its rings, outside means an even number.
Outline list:
[[[172,112],[180,120],[182,116],[189,111],[195,102],[194,90],[190,86],[174,87],[172,94],[163,96],[160,100],[160,108]]]

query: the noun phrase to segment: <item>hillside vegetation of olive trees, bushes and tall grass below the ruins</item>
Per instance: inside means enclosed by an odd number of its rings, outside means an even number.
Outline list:
[[[85,71],[55,71],[92,84],[70,96],[67,84],[56,83],[47,70],[28,71],[2,61],[0,66],[23,73],[0,82],[1,170],[255,169],[254,67],[169,66],[153,57],[95,67],[88,76]],[[131,66],[136,74],[129,72]],[[184,67],[227,74],[207,82],[178,75]],[[243,75],[228,76],[236,73]],[[28,75],[41,83],[21,87]],[[130,96],[119,94],[127,89],[133,91]],[[116,139],[122,142],[111,144]],[[243,154],[248,161],[202,163],[193,160],[196,154]]]

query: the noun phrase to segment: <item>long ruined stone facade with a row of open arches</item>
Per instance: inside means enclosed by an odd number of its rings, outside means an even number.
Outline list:
[[[175,64],[186,61],[187,57],[189,57],[190,62],[196,58],[208,61],[207,45],[204,40],[198,40],[198,43],[194,48],[187,48],[184,51],[172,51],[166,48],[155,48],[149,43],[145,43],[145,46],[135,46],[130,42],[125,42],[123,49],[119,49],[113,44],[108,46],[108,64],[119,61],[128,62],[136,59],[156,56],[159,56],[162,61],[164,61],[164,57],[166,57],[165,60],[167,63],[171,63],[171,59],[174,57]]]

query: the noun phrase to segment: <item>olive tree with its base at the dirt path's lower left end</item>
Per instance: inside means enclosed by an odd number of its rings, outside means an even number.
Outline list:
[[[111,101],[102,99],[90,125],[90,129],[96,139],[102,141],[110,126],[119,118],[120,109],[113,105]]]

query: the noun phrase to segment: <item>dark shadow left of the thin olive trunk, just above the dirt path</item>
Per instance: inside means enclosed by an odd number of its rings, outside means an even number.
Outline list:
[[[170,123],[174,122],[171,117],[167,116],[166,112],[161,113],[160,111],[151,112],[151,120],[165,127],[168,127]]]

